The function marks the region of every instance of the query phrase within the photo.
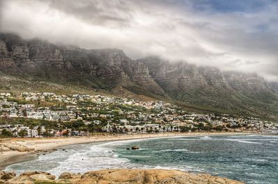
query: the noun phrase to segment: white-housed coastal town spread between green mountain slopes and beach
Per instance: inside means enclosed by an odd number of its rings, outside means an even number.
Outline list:
[[[1,137],[67,137],[93,133],[261,132],[278,124],[254,117],[186,112],[164,101],[88,94],[0,94]]]

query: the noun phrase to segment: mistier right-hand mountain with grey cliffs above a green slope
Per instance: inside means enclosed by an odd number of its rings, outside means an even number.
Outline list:
[[[276,83],[257,74],[221,72],[216,67],[197,67],[186,62],[142,58],[149,74],[173,99],[188,106],[275,119],[278,113]]]

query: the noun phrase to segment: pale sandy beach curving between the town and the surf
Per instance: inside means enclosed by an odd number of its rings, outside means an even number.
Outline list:
[[[182,137],[182,136],[202,136],[202,135],[247,135],[259,133],[158,133],[158,134],[136,134],[136,135],[92,135],[90,137],[49,137],[49,138],[13,138],[10,142],[17,142],[25,147],[34,149],[32,152],[5,151],[0,154],[0,170],[6,169],[9,165],[19,162],[33,160],[42,153],[55,151],[58,147],[64,147],[73,144],[90,144],[94,142],[108,142],[120,140],[140,140],[158,137]]]

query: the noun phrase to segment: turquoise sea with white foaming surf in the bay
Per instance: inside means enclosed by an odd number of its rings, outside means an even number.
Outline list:
[[[133,145],[140,149],[126,150]],[[181,169],[245,183],[278,183],[278,136],[188,136],[80,144],[7,169],[18,173],[41,170],[58,176],[65,171],[106,168]]]

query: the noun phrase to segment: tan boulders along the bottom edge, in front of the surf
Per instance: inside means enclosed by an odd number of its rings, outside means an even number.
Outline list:
[[[2,172],[1,174],[6,174]],[[1,175],[0,174],[0,175]],[[14,174],[10,174],[13,176]],[[5,184],[33,183],[73,183],[73,184],[240,184],[227,178],[208,174],[190,174],[177,170],[165,169],[107,169],[81,174],[65,172],[57,180],[47,172],[26,172],[20,176],[2,180]]]

